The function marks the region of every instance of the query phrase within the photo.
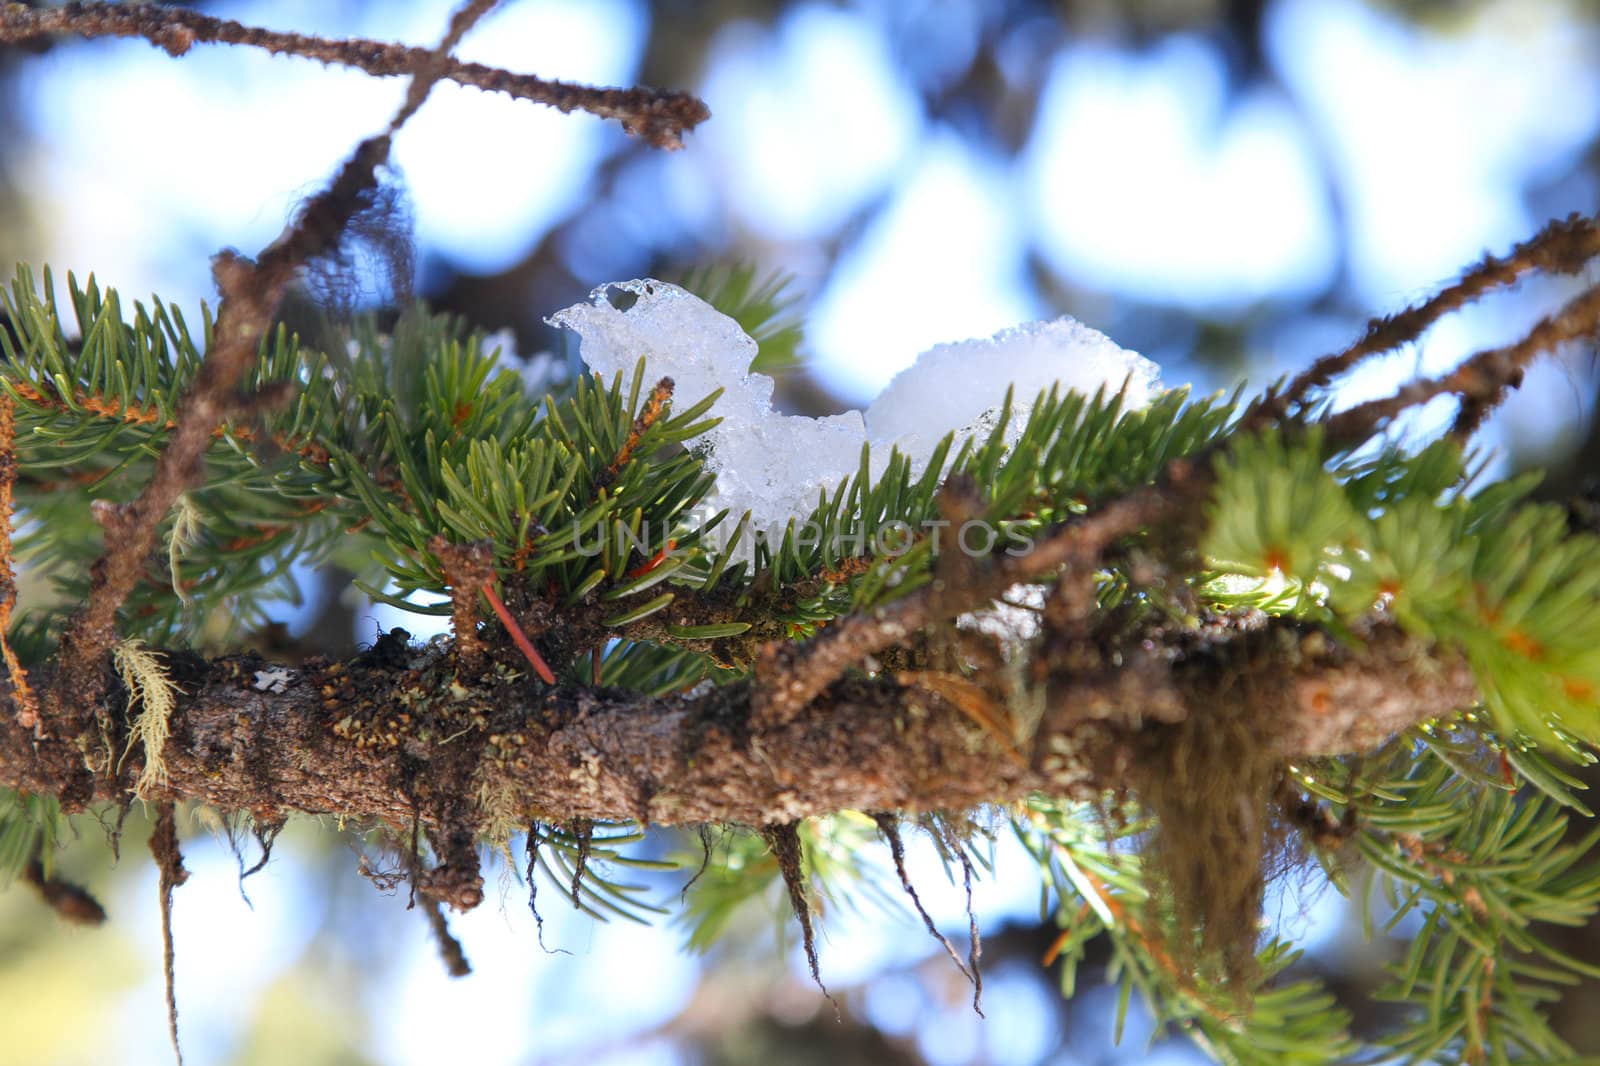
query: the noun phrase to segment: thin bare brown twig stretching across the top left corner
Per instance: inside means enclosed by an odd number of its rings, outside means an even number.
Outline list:
[[[474,16],[475,18],[475,16]],[[418,74],[434,58],[427,48],[387,45],[374,40],[330,40],[306,34],[278,34],[198,11],[157,5],[69,3],[61,8],[0,8],[0,43],[16,43],[50,34],[78,37],[144,37],[181,56],[197,43],[248,45],[272,54],[302,56],[325,64],[357,67],[374,77]],[[584,110],[611,118],[627,133],[656,147],[683,147],[683,134],[706,122],[710,109],[688,93],[648,88],[592,88],[570,82],[512,74],[482,62],[448,59],[440,74],[458,85],[546,104],[563,112]]]

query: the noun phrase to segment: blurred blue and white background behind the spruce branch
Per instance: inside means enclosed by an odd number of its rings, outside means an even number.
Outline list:
[[[427,45],[451,5],[192,6]],[[728,261],[784,271],[808,341],[781,397],[808,413],[862,405],[938,341],[1059,314],[1155,359],[1166,384],[1261,387],[1485,251],[1600,210],[1600,11],[1579,0],[504,0],[459,54],[686,88],[714,117],[662,154],[595,118],[438,86],[395,144],[414,293],[509,330],[528,357],[565,351],[544,315],[602,282]],[[0,48],[0,262],[93,271],[192,309],[213,296],[211,253],[277,235],[402,93],[248,50]],[[1594,280],[1470,307],[1339,402],[1518,336]],[[1493,472],[1549,467],[1552,496],[1600,472],[1592,355],[1530,373],[1482,437]],[[1424,410],[1406,431],[1448,416]],[[323,648],[419,631],[315,587],[285,621]],[[1182,1040],[1152,1044],[1138,1005],[1115,1045],[1112,986],[1080,980],[1061,999],[1040,964],[1056,930],[1037,874],[1005,837],[974,893],[987,1018],[914,916],[838,900],[821,944],[835,1020],[776,892],[698,956],[670,919],[595,924],[550,890],[547,952],[501,864],[504,892],[453,922],[477,970],[453,981],[421,914],[357,877],[357,845],[331,829],[291,823],[246,901],[222,834],[189,820],[174,925],[189,1061],[1203,1061]],[[115,868],[99,836],[66,872],[106,903],[106,927],[61,927],[21,887],[0,895],[0,1064],[171,1061],[155,872],[138,832]],[[643,850],[686,856],[685,876],[651,882],[674,906],[698,848]],[[862,861],[888,871],[880,850]],[[926,842],[912,876],[960,946],[963,893]],[[1310,879],[1269,904],[1358,1023],[1381,1024],[1363,989],[1395,943],[1363,943]],[[1584,936],[1566,946],[1600,954]],[[1563,1026],[1595,1052],[1586,999],[1562,1007]]]

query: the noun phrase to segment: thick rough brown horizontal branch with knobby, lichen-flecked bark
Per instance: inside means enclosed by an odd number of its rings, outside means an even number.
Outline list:
[[[1475,699],[1467,666],[1392,629],[1358,650],[1317,632],[1259,632],[1171,661],[1150,655],[1053,679],[1037,731],[997,738],[936,693],[856,675],[781,723],[734,683],[642,698],[546,687],[512,659],[458,672],[440,645],[390,634],[346,663],[168,656],[184,696],[152,799],[203,800],[277,821],[288,812],[419,821],[464,837],[494,820],[789,823],[842,808],[926,812],[1118,787],[1141,746],[1218,707],[1245,714],[1283,757],[1360,751]],[[48,685],[48,679],[45,680]],[[106,717],[128,693],[107,679]],[[91,715],[93,720],[94,715]],[[149,752],[107,763],[93,731],[35,736],[0,714],[0,781],[69,808],[128,799]],[[1218,767],[1226,773],[1226,767]]]

